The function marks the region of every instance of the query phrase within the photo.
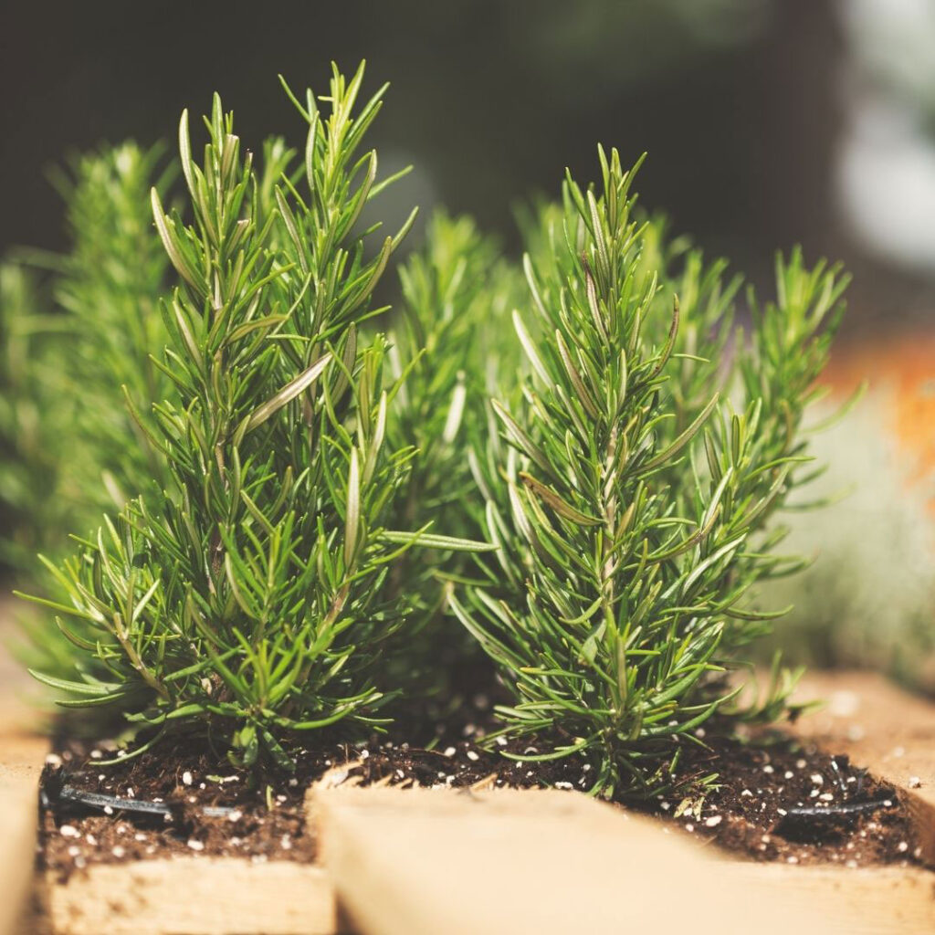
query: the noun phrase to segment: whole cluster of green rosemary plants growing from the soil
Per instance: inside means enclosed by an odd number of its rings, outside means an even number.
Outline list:
[[[289,769],[302,732],[366,736],[483,651],[515,696],[505,733],[593,760],[596,792],[664,787],[770,628],[755,583],[799,564],[772,520],[807,480],[798,427],[842,281],[794,253],[746,335],[740,281],[640,221],[635,170],[600,151],[599,190],[569,178],[525,214],[522,271],[437,215],[384,336],[410,223],[362,223],[393,180],[362,146],[382,96],[360,105],[362,80],[335,70],[324,109],[286,89],[304,151],[271,140],[258,167],[219,99],[201,160],[183,115],[181,211],[165,177],[144,198],[151,153],[81,164],[70,338],[30,358],[62,375],[36,398],[78,397],[39,423],[83,509],[37,543],[71,669],[43,629],[37,677],[122,713],[137,752],[210,733]]]

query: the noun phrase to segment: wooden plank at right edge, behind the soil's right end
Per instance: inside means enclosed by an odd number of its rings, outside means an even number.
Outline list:
[[[797,701],[823,699],[793,727],[902,790],[921,856],[935,867],[935,705],[872,672],[808,672]]]

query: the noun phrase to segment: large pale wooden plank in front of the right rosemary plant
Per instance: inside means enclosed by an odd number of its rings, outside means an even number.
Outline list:
[[[744,864],[578,793],[338,788],[311,798],[338,898],[367,935],[935,927],[925,871]]]

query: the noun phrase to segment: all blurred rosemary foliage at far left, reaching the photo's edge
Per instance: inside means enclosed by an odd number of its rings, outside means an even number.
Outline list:
[[[158,296],[168,265],[148,205],[151,184],[167,183],[160,154],[124,143],[58,171],[71,250],[22,251],[21,264],[7,270],[7,281],[34,287],[28,301],[4,302],[16,375],[8,431],[22,483],[7,496],[19,520],[7,525],[3,544],[17,583],[46,596],[57,585],[36,565],[36,551],[63,558],[69,531],[87,535],[105,511],[160,477],[121,397],[150,399],[166,384],[150,359],[165,344]],[[22,635],[27,665],[55,675],[74,665],[77,650],[49,614],[22,615]]]

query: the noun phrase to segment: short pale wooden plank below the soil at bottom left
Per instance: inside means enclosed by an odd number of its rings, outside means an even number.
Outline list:
[[[103,864],[42,901],[54,935],[335,935],[334,890],[320,867],[178,857]]]

